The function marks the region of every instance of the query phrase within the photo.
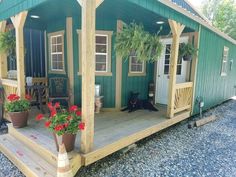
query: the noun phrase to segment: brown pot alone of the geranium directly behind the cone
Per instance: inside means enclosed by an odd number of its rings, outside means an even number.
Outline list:
[[[58,136],[55,133],[53,133],[53,137],[56,143],[57,151],[59,151],[59,144],[63,143],[66,148],[66,152],[73,151],[75,148],[75,139],[76,134],[64,134],[62,136]]]

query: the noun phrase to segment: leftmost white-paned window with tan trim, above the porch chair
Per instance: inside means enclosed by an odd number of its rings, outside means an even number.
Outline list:
[[[64,73],[64,32],[49,34],[50,72]]]

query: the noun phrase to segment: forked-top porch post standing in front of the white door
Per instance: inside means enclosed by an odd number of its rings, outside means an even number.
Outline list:
[[[171,32],[173,34],[173,42],[171,46],[171,58],[170,58],[170,80],[169,80],[169,94],[168,94],[168,108],[167,117],[174,117],[174,101],[175,101],[175,85],[176,85],[176,72],[179,55],[179,41],[180,35],[183,32],[185,26],[177,23],[174,20],[169,20]]]

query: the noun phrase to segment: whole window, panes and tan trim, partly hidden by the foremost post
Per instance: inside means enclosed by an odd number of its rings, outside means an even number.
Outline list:
[[[81,30],[77,30],[79,51],[82,50]],[[112,76],[111,72],[111,43],[112,31],[96,31],[95,73],[97,76]],[[81,74],[81,52],[79,53],[79,74]]]

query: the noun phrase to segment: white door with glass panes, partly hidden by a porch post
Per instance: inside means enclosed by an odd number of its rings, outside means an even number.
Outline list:
[[[182,37],[180,43],[187,43],[188,37]],[[164,49],[161,58],[157,62],[156,72],[156,98],[155,102],[167,104],[168,102],[168,86],[169,86],[169,66],[172,39],[162,40]],[[176,82],[183,83],[187,79],[187,61],[180,60],[177,65]]]

